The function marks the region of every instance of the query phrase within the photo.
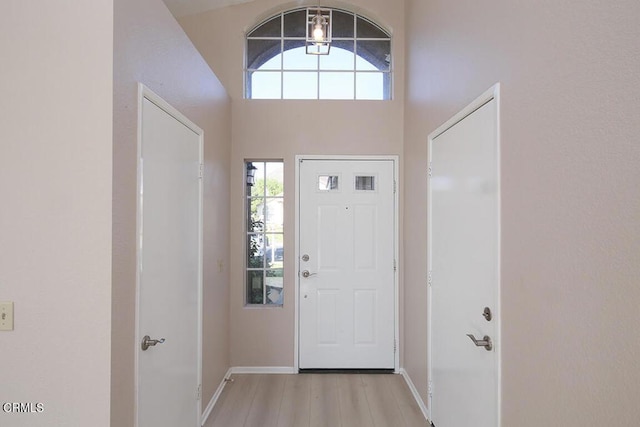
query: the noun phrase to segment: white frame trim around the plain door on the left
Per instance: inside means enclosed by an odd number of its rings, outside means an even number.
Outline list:
[[[135,358],[134,358],[134,426],[138,426],[138,393],[139,393],[139,359],[140,359],[140,342],[142,337],[140,336],[140,260],[142,259],[142,249],[140,247],[140,237],[142,235],[142,200],[139,197],[140,190],[142,186],[142,105],[144,100],[148,100],[158,108],[172,116],[174,119],[182,123],[184,126],[189,128],[195,134],[198,135],[198,147],[199,147],[199,162],[200,167],[202,168],[204,162],[204,131],[189,120],[186,116],[180,113],[177,109],[175,109],[171,104],[162,99],[159,95],[153,92],[151,89],[146,87],[144,84],[138,82],[138,123],[137,123],[137,154],[136,154],[136,175],[137,175],[137,183],[136,183],[136,302],[135,302],[135,341],[133,343],[135,349]],[[202,418],[202,329],[203,329],[203,242],[204,242],[204,187],[203,187],[203,178],[199,180],[198,183],[198,229],[200,230],[198,236],[198,325],[197,325],[197,378],[198,384],[196,387],[200,388],[200,397],[196,402],[196,409],[198,413],[197,417],[197,426],[199,427]],[[195,390],[194,390],[195,392]]]

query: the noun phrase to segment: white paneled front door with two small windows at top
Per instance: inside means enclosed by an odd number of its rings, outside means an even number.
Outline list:
[[[393,369],[394,162],[299,167],[299,368]]]

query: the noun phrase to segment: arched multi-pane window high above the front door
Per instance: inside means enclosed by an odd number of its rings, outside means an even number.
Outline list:
[[[328,55],[305,51],[306,9],[279,13],[247,34],[250,99],[391,99],[391,36],[372,21],[332,9]]]

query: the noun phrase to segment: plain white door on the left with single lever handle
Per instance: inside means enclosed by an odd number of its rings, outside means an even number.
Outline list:
[[[200,418],[201,136],[147,98],[141,120],[138,427],[195,427]],[[143,350],[145,336],[164,342]]]

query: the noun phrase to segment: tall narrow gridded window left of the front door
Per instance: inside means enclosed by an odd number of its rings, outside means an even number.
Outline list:
[[[246,161],[247,305],[282,305],[284,285],[284,164]]]

